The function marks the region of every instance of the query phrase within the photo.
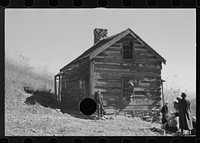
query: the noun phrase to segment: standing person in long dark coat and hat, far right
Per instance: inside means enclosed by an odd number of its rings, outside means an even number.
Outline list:
[[[192,117],[190,111],[190,101],[186,98],[186,94],[181,94],[182,99],[178,103],[179,109],[179,124],[181,129],[181,134],[183,134],[183,130],[189,130],[189,134],[191,134],[192,126]]]

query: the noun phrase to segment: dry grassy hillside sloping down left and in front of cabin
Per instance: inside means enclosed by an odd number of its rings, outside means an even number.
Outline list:
[[[32,93],[24,91],[31,87]],[[51,91],[50,91],[51,89]],[[5,62],[6,136],[160,136],[158,123],[116,116],[95,120],[61,113],[53,94],[51,76],[35,73],[28,65]],[[151,131],[154,128],[154,132]],[[159,130],[158,130],[159,131]],[[170,136],[170,134],[167,134]]]

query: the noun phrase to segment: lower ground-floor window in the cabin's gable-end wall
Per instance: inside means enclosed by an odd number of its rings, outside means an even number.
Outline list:
[[[131,94],[133,94],[133,86],[131,86],[130,80],[132,79],[131,78],[122,79],[123,97],[130,96]]]

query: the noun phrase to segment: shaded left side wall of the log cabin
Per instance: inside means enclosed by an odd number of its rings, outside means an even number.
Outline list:
[[[89,95],[89,61],[80,60],[62,71],[62,109],[78,110],[79,102]]]

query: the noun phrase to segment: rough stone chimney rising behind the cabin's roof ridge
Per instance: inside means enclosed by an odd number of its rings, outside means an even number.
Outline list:
[[[102,28],[94,29],[94,44],[107,37],[108,30]]]

